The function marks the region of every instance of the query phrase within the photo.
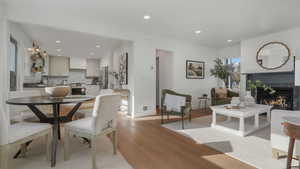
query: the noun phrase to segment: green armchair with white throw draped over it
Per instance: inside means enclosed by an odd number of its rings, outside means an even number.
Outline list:
[[[172,104],[172,100],[175,102]],[[171,101],[171,102],[170,102]],[[181,102],[181,103],[179,103]],[[161,123],[164,123],[164,115],[177,115],[181,117],[182,129],[184,129],[184,117],[189,116],[191,121],[192,96],[179,94],[175,91],[164,89],[162,90],[161,98]],[[170,104],[171,103],[171,104]],[[178,106],[177,108],[174,106]]]

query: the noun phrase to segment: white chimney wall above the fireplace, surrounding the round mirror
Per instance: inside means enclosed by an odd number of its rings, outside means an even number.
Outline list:
[[[256,52],[268,42],[283,42],[291,50],[289,62],[276,70],[265,70],[256,63]],[[242,73],[284,72],[293,70],[293,56],[300,54],[300,28],[272,33],[241,42],[241,71]]]

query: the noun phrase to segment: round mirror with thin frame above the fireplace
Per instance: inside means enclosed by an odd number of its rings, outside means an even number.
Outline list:
[[[264,69],[273,70],[285,65],[290,59],[291,52],[282,42],[264,44],[256,54],[256,62]]]

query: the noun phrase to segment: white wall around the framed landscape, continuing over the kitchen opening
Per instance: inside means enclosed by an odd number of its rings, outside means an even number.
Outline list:
[[[40,24],[58,29],[92,33],[133,42],[133,60],[130,61],[129,77],[132,78],[132,108],[136,116],[155,113],[155,57],[156,49],[170,50],[174,53],[174,89],[178,92],[192,94],[193,105],[198,96],[209,93],[216,86],[216,80],[209,77],[209,69],[217,55],[215,49],[199,46],[186,41],[165,39],[126,30],[120,27],[104,25],[97,18],[82,18],[81,16],[58,15],[55,10],[41,12],[35,6],[28,8],[10,6],[8,17],[11,20]],[[47,19],[45,19],[47,18]],[[59,18],[59,19],[57,19]],[[67,22],[66,22],[67,21]],[[205,61],[206,74],[204,80],[185,79],[186,59]],[[148,111],[142,111],[143,106],[149,106]]]

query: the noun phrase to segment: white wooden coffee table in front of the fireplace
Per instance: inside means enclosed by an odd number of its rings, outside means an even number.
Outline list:
[[[240,109],[227,109],[225,106],[227,105],[210,107],[213,110],[211,127],[244,137],[270,125],[272,106],[255,104]],[[260,118],[262,113],[267,113],[267,116]],[[217,123],[217,115],[226,116],[227,120]],[[232,117],[237,120],[233,120]],[[254,120],[251,121],[251,117],[254,117]]]

